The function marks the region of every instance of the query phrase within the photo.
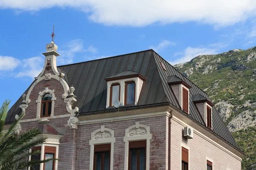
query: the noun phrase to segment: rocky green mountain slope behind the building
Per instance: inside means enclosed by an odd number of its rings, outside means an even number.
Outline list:
[[[256,47],[200,55],[175,68],[210,96],[247,154],[242,170],[256,170]]]

